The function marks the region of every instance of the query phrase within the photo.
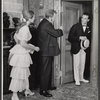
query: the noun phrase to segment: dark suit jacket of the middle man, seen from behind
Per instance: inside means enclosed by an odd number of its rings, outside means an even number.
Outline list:
[[[43,19],[38,28],[38,45],[42,56],[57,56],[60,49],[57,43],[57,37],[63,35],[62,30],[54,29],[54,26],[47,20]]]

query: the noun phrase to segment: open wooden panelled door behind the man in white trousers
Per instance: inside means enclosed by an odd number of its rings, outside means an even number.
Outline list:
[[[79,22],[81,15],[82,5],[62,1],[62,26],[63,37],[61,38],[61,70],[62,70],[62,83],[72,82],[73,66],[72,55],[70,53],[71,44],[68,42],[69,30],[73,24]]]

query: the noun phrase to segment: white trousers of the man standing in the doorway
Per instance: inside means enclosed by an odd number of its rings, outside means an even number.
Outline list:
[[[86,53],[82,49],[77,54],[73,54],[75,82],[79,82],[84,78],[85,59]]]

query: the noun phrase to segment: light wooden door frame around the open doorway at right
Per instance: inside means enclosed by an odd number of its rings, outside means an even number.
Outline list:
[[[54,0],[54,10],[57,11],[58,17],[55,21],[55,28],[59,28],[62,25],[61,13],[62,1],[91,1],[92,2],[92,13],[93,13],[93,23],[92,23],[92,36],[91,36],[91,59],[90,59],[90,84],[93,87],[97,87],[98,78],[98,0]],[[60,23],[60,24],[59,24]],[[59,46],[61,48],[61,38],[58,39]],[[56,66],[56,67],[55,67]],[[54,85],[62,84],[62,71],[61,71],[61,59],[60,55],[55,57],[54,67],[59,70],[59,77],[55,78],[55,68],[54,68]],[[94,74],[93,74],[94,73]]]

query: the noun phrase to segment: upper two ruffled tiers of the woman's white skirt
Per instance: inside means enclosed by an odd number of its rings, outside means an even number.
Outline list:
[[[10,53],[12,53],[13,56],[9,64],[16,67],[29,67],[30,64],[33,63],[29,52],[29,50],[26,50],[20,44],[16,44],[10,49]]]

